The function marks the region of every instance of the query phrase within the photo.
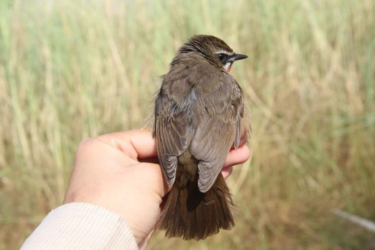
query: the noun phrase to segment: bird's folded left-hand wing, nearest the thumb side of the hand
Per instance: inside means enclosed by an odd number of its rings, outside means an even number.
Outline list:
[[[155,125],[157,155],[168,185],[174,183],[177,156],[183,154],[189,143],[189,114],[177,105],[170,95],[160,90],[155,101]]]

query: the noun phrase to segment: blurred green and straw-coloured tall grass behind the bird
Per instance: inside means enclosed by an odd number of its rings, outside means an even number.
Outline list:
[[[375,249],[331,213],[375,220],[374,0],[1,0],[0,249],[62,203],[81,140],[139,126],[193,34],[249,55],[252,158],[235,229],[148,249]]]

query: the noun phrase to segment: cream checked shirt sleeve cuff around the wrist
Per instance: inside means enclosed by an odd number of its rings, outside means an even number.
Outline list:
[[[98,205],[73,202],[52,210],[21,247],[30,249],[138,249],[124,219]]]

